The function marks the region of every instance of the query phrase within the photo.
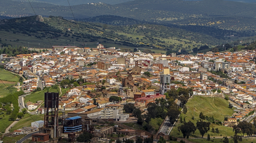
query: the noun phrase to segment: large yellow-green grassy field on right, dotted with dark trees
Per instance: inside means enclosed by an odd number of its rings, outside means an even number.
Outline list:
[[[188,112],[186,114],[181,113],[182,119],[186,119],[186,121],[192,121],[195,125],[196,122],[200,120],[199,115],[200,112],[204,113],[206,116],[214,117],[214,119],[224,121],[225,116],[231,116],[234,111],[227,107],[228,102],[225,99],[221,98],[208,98],[203,96],[194,96],[192,99],[186,103],[186,107],[188,108]],[[194,116],[194,120],[192,117]],[[182,133],[178,132],[177,127],[181,125],[181,123],[178,122],[178,124],[175,125],[172,132],[170,133],[174,137],[182,137]],[[212,128],[218,128],[220,133],[213,133],[211,132]],[[222,136],[233,136],[233,128],[225,127],[222,125],[217,124],[210,124],[210,131],[208,131],[211,137],[222,137]],[[207,136],[205,134],[204,137]],[[201,137],[199,131],[197,130],[193,136],[191,137]]]

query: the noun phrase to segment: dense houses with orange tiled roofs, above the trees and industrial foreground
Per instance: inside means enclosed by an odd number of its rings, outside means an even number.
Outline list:
[[[123,112],[123,103],[133,102],[143,109],[156,99],[165,99],[159,87],[160,75],[167,74],[172,80],[169,89],[190,87],[194,95],[230,95],[234,106],[241,108],[231,119],[242,119],[256,104],[255,55],[255,51],[196,55],[121,52],[99,44],[97,48],[52,46],[46,52],[1,60],[7,62],[5,69],[23,74],[22,90],[26,91],[34,91],[39,82],[51,87],[66,79],[82,79],[79,86],[64,85],[70,89],[60,97],[59,108],[69,110],[68,116],[126,121],[129,115]],[[109,101],[111,96],[118,96],[120,102]],[[38,103],[26,106],[34,110]],[[43,110],[38,108],[38,113]]]

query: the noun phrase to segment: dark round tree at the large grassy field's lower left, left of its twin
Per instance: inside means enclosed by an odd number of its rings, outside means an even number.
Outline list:
[[[178,127],[178,131],[183,134],[184,138],[189,138],[189,136],[196,131],[196,126],[191,121],[184,122],[183,125]]]

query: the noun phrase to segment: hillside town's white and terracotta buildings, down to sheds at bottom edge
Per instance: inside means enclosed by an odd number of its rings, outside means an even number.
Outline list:
[[[172,131],[172,121],[166,119],[160,124],[157,132],[147,132],[123,123],[139,120],[132,113],[124,111],[126,104],[147,113],[148,104],[167,100],[168,90],[192,89],[192,96],[219,97],[229,100],[235,108],[222,125],[233,127],[238,121],[249,120],[256,109],[256,51],[207,52],[192,54],[120,52],[120,49],[79,48],[76,46],[52,46],[48,51],[18,54],[8,57],[1,54],[5,69],[22,75],[23,84],[18,85],[25,94],[54,88],[58,90],[58,110],[66,115],[67,120],[79,120],[83,126],[72,130],[63,125],[64,133],[90,131],[95,142],[109,141],[112,133],[118,137],[136,140],[144,138],[168,140]],[[46,101],[25,102],[29,112],[45,114]],[[174,100],[177,106],[184,107],[180,99]],[[232,108],[231,107],[231,108]],[[78,124],[78,122],[74,124]],[[111,124],[104,125],[104,122]],[[92,123],[99,124],[91,128]],[[101,124],[102,123],[102,124]],[[14,131],[14,134],[25,134],[44,131],[45,121],[31,123]],[[175,124],[175,123],[174,123]],[[73,125],[72,127],[79,125]],[[167,128],[165,128],[167,127]],[[72,136],[63,135],[72,139]],[[37,137],[41,136],[41,137]],[[45,136],[45,137],[44,137]],[[54,138],[54,131],[40,132],[32,135],[32,140],[47,141]],[[76,136],[77,137],[77,136]],[[76,138],[75,137],[75,138]],[[116,136],[117,137],[117,136]],[[73,138],[71,141],[74,141]]]

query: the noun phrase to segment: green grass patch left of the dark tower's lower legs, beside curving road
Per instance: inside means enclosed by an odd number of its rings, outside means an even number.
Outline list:
[[[44,115],[29,115],[29,113],[26,113],[25,116],[22,117],[21,120],[17,124],[14,125],[13,128],[11,128],[11,132],[13,132],[15,129],[21,129],[22,127],[31,127],[31,123],[38,120],[43,120]]]

